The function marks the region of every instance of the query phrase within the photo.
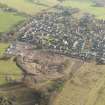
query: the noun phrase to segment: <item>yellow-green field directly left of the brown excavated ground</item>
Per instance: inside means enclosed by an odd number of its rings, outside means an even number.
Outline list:
[[[0,60],[0,85],[8,83],[5,76],[9,75],[13,80],[21,78],[22,71],[12,60]]]

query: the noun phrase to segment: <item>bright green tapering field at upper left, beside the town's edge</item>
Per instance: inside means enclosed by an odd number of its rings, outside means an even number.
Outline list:
[[[0,32],[9,31],[14,25],[23,21],[25,18],[13,13],[0,12]]]

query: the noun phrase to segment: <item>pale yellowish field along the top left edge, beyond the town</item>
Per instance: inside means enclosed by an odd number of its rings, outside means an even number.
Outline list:
[[[40,0],[40,4],[32,2],[32,0],[0,0],[1,3],[17,9],[20,12],[34,15],[43,9],[47,9],[57,4],[57,0]]]

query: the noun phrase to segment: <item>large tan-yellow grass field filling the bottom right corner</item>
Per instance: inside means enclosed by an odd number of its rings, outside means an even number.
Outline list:
[[[84,63],[65,84],[54,105],[105,105],[105,65]]]

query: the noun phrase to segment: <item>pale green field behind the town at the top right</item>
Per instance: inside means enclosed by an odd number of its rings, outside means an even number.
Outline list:
[[[69,0],[65,1],[67,7],[79,8],[82,13],[94,14],[97,18],[105,19],[105,8],[96,7],[91,0]]]

